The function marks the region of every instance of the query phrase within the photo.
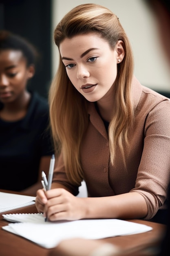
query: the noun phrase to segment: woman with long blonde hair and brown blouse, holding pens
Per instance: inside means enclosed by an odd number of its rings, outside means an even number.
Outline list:
[[[50,221],[152,219],[168,189],[169,99],[134,77],[129,40],[107,8],[75,7],[54,40],[60,65],[49,103],[60,152],[52,189],[37,191],[38,211]],[[88,198],[77,198],[83,179]]]

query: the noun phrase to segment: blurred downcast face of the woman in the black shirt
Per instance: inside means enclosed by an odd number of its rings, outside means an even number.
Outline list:
[[[24,92],[33,70],[19,50],[0,50],[0,101],[15,101]]]

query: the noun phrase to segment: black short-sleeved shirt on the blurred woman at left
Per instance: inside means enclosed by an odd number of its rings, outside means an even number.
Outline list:
[[[35,92],[23,119],[0,119],[0,189],[21,191],[37,182],[40,158],[53,154],[48,125],[48,103]]]

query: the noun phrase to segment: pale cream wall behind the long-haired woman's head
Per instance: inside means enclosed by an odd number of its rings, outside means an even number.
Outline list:
[[[143,0],[53,0],[52,29],[68,11],[83,3],[101,4],[119,17],[132,45],[137,79],[152,89],[170,91],[168,62],[159,41],[154,17]],[[53,43],[52,75],[57,70],[57,60],[58,51]]]

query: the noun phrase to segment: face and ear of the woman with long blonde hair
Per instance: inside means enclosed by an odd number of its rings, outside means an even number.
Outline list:
[[[68,78],[88,101],[99,101],[113,93],[117,63],[124,58],[121,40],[111,49],[96,33],[80,34],[65,38],[59,49]]]

